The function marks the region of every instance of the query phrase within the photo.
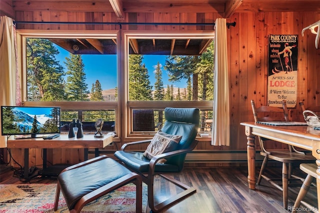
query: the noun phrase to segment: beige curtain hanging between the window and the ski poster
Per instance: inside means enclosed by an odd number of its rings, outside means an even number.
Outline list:
[[[226,20],[215,20],[212,145],[230,145]]]

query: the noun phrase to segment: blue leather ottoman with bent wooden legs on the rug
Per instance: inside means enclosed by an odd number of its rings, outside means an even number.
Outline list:
[[[141,177],[105,155],[65,168],[57,179],[54,211],[60,190],[70,213],[79,213],[96,198],[133,183],[136,186],[136,212],[142,212]]]

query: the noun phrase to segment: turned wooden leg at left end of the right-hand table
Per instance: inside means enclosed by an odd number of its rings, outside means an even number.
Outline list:
[[[255,136],[251,135],[251,128],[245,127],[245,135],[247,136],[247,160],[248,160],[248,185],[249,189],[255,190]]]

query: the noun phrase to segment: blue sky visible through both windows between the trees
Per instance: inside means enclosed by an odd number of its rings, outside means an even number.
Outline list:
[[[56,59],[60,61],[60,64],[65,68],[65,57],[69,56],[69,52],[63,48],[56,46],[60,52]],[[116,55],[82,55],[82,60],[84,63],[84,71],[86,73],[86,83],[88,85],[88,90],[91,90],[92,83],[99,80],[102,90],[113,89],[116,86]],[[162,65],[162,81],[163,87],[166,85],[173,84],[173,87],[186,87],[186,80],[184,82],[169,82],[168,75],[163,69],[165,64],[165,55],[144,55],[143,63],[149,72],[149,80],[151,85],[154,85],[155,75],[154,70],[157,62]]]

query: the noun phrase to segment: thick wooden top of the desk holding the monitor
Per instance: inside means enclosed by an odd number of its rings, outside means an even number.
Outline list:
[[[51,140],[42,138],[9,139],[7,148],[104,148],[112,143],[112,136],[104,135],[103,138],[94,138],[94,135],[83,135],[83,138],[68,138],[61,134]]]

